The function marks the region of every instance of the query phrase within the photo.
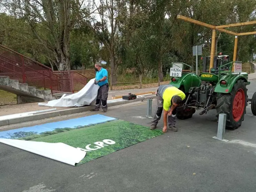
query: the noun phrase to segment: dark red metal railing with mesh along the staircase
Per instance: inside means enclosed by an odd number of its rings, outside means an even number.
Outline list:
[[[51,68],[0,45],[0,75],[51,89],[51,93],[72,92],[86,85],[87,77],[75,71],[52,71]],[[79,89],[80,90],[80,89]]]

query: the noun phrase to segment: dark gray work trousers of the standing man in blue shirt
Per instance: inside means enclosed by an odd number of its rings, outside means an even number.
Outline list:
[[[95,109],[99,109],[102,104],[102,109],[108,109],[107,99],[108,99],[108,84],[104,84],[99,87]]]

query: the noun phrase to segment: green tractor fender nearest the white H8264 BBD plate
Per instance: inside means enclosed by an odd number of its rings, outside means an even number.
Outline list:
[[[200,77],[195,73],[183,73],[181,77],[171,78],[175,78],[176,81],[171,81],[169,84],[177,88],[183,86],[185,93],[189,92],[190,87],[200,87],[201,84]]]

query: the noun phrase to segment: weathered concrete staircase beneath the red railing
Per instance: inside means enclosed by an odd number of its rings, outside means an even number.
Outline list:
[[[0,89],[17,95],[17,104],[45,102],[60,98],[64,93],[52,95],[51,90],[40,90],[28,86],[27,83],[19,83],[18,80],[8,76],[0,76]]]

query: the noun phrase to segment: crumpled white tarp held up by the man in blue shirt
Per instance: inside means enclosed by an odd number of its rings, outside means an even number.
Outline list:
[[[39,103],[39,106],[47,107],[82,107],[90,105],[97,97],[99,86],[94,84],[94,78],[91,79],[79,92],[66,95],[60,99],[49,101],[48,103]]]

